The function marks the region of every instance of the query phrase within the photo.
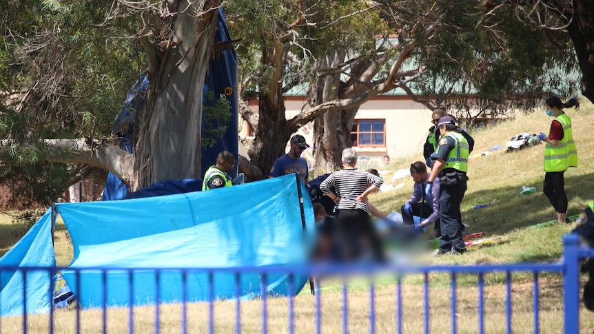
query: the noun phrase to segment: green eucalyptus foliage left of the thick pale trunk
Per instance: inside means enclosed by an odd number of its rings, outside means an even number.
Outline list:
[[[145,70],[136,19],[104,24],[111,1],[0,3],[0,185],[12,203],[48,205],[78,168],[37,165],[39,140],[107,138],[129,87]],[[22,103],[18,105],[17,103]]]

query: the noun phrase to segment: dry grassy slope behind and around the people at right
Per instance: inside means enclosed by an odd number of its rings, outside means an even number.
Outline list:
[[[568,216],[581,213],[589,200],[594,198],[591,170],[594,142],[589,138],[594,129],[591,116],[594,106],[582,101],[579,110],[568,109],[573,121],[573,136],[577,144],[580,167],[565,174],[565,189],[569,197]],[[480,247],[464,257],[440,258],[437,262],[532,262],[555,260],[562,252],[561,237],[571,231],[570,225],[553,225],[539,229],[526,229],[531,225],[555,219],[555,211],[542,194],[544,180],[544,145],[536,145],[519,152],[505,153],[507,141],[520,132],[538,134],[546,132],[552,118],[544,110],[520,114],[511,121],[471,132],[475,138],[472,154],[489,152],[500,145],[502,149],[492,154],[473,158],[469,162],[469,189],[462,202],[462,220],[469,225],[467,233],[487,232],[487,236],[502,236],[503,242],[491,247]],[[399,158],[389,167],[393,170],[408,169],[416,160],[423,160],[422,148],[418,156]],[[391,175],[387,176],[390,182]],[[399,211],[411,194],[413,181],[402,178],[392,185],[404,187],[374,194],[371,200],[384,212]],[[522,195],[522,185],[536,187],[535,194]],[[473,209],[475,205],[491,202],[489,207]]]

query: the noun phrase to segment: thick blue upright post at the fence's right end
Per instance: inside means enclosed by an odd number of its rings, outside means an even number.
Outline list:
[[[563,237],[565,333],[580,332],[580,246],[577,236]]]

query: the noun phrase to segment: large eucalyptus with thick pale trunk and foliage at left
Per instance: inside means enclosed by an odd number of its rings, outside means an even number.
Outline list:
[[[0,115],[3,179],[36,162],[107,169],[131,189],[200,178],[203,83],[221,2],[0,5],[7,45],[0,70],[10,76]],[[141,72],[150,86],[130,154],[106,138]]]

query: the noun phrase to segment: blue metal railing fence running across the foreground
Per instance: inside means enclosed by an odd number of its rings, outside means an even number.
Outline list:
[[[460,328],[458,328],[458,319],[457,319],[457,311],[458,311],[458,304],[456,298],[458,293],[458,278],[460,275],[465,274],[473,274],[477,275],[477,286],[476,289],[478,291],[478,301],[477,301],[477,309],[478,309],[478,333],[485,333],[485,298],[484,298],[484,289],[485,289],[485,280],[484,275],[491,274],[491,273],[501,273],[505,279],[505,303],[504,303],[504,313],[505,313],[505,328],[506,333],[513,333],[512,328],[512,316],[513,316],[513,304],[512,304],[512,296],[511,296],[511,276],[513,273],[529,273],[533,275],[533,285],[532,285],[532,312],[533,312],[533,333],[540,333],[542,331],[542,326],[540,324],[540,280],[539,277],[543,273],[557,273],[562,275],[563,278],[563,304],[564,304],[564,333],[579,333],[580,332],[580,260],[584,258],[594,257],[594,250],[593,249],[586,249],[580,247],[578,244],[577,236],[569,235],[565,236],[563,240],[563,258],[559,262],[555,263],[542,263],[542,264],[502,264],[502,265],[494,265],[494,264],[477,264],[477,265],[463,265],[463,266],[411,266],[411,265],[398,265],[398,264],[387,264],[387,265],[371,265],[371,264],[359,264],[359,265],[303,265],[303,266],[270,266],[270,267],[242,267],[242,268],[229,268],[229,269],[221,269],[221,268],[205,268],[205,269],[155,269],[155,268],[136,268],[136,269],[110,269],[110,268],[88,268],[88,269],[74,269],[76,271],[76,277],[79,277],[80,273],[83,271],[101,271],[103,273],[103,286],[105,287],[106,284],[106,277],[109,271],[127,271],[129,279],[129,284],[132,286],[132,277],[134,272],[138,271],[154,271],[156,272],[156,282],[158,286],[158,277],[159,275],[167,272],[177,272],[183,275],[183,293],[182,299],[180,300],[181,304],[181,315],[180,315],[180,324],[181,324],[181,333],[187,333],[187,321],[188,321],[188,313],[187,313],[187,303],[186,298],[187,294],[185,291],[185,278],[187,275],[192,275],[193,273],[200,272],[200,273],[207,273],[209,275],[209,300],[205,301],[207,303],[207,333],[215,333],[215,307],[214,303],[216,301],[216,296],[214,295],[213,286],[216,284],[214,281],[215,273],[232,273],[235,278],[236,282],[240,282],[240,275],[245,273],[257,273],[261,277],[261,285],[260,285],[260,301],[261,301],[261,333],[268,333],[269,328],[267,327],[269,321],[269,297],[266,295],[267,291],[267,278],[269,275],[278,274],[278,273],[285,273],[289,274],[290,277],[294,277],[296,275],[309,275],[310,277],[316,278],[316,294],[315,296],[311,297],[314,302],[314,315],[312,322],[314,322],[314,328],[316,333],[322,332],[322,291],[320,290],[320,280],[318,278],[327,277],[327,276],[336,276],[339,277],[351,277],[353,275],[378,275],[378,274],[390,274],[395,275],[394,281],[396,282],[396,306],[395,306],[395,315],[393,317],[393,324],[394,331],[396,333],[403,333],[403,313],[402,313],[402,278],[407,275],[418,275],[420,274],[423,278],[422,283],[422,304],[423,304],[423,328],[422,331],[424,333],[430,333],[430,321],[429,315],[431,306],[429,303],[429,275],[430,274],[445,274],[450,275],[451,277],[451,285],[450,285],[450,293],[451,293],[451,304],[449,305],[451,319],[449,320],[451,323],[451,333],[458,333]],[[63,268],[14,268],[14,267],[3,267],[0,268],[0,277],[2,272],[7,271],[21,271],[23,275],[25,275],[25,283],[26,284],[26,276],[27,273],[32,271],[44,271],[48,273],[48,279],[51,278]],[[70,268],[69,270],[73,270]],[[79,286],[79,284],[77,284]],[[237,284],[237,295],[240,295],[239,291],[239,284]],[[368,312],[368,319],[369,319],[369,333],[376,333],[378,329],[376,328],[376,296],[375,296],[375,289],[376,287],[373,284],[369,285],[369,309],[362,310],[361,312]],[[107,333],[107,309],[108,309],[108,302],[107,302],[107,291],[103,289],[103,307],[101,308],[101,328],[94,328],[94,332],[101,331],[102,333]],[[293,280],[289,279],[289,296],[287,299],[287,332],[288,333],[303,333],[300,331],[296,331],[295,325],[295,286],[293,285]],[[307,292],[309,289],[305,289],[303,293]],[[76,295],[77,292],[73,291]],[[349,287],[347,285],[347,281],[342,285],[342,319],[340,320],[340,324],[342,325],[342,333],[347,333],[349,331],[349,318],[350,313],[353,313],[352,310],[349,310],[348,301],[349,301]],[[26,294],[23,294],[26,295]],[[48,298],[53,300],[54,293],[53,291],[48,291]],[[134,333],[134,310],[136,306],[134,305],[134,289],[130,289],[130,305],[127,308],[127,315],[128,315],[128,324],[127,324],[127,331],[128,333]],[[154,311],[154,333],[159,333],[162,330],[161,324],[161,314],[160,314],[160,307],[158,306],[158,289],[156,293],[156,300],[155,300],[155,311]],[[24,298],[23,302],[26,303],[27,300]],[[235,299],[235,300],[227,300],[225,303],[235,303],[234,307],[234,327],[236,333],[245,333],[246,328],[243,327],[243,322],[241,319],[241,304],[242,300]],[[76,320],[75,324],[73,325],[74,331],[76,333],[81,332],[81,310],[78,307],[74,307],[70,310],[72,313],[76,313]],[[54,333],[54,309],[51,309],[49,320],[48,320],[48,331],[47,333]],[[28,332],[28,320],[31,315],[27,315],[23,312],[21,319],[21,332],[27,333]],[[14,317],[12,318],[14,320]],[[6,322],[7,318],[0,318],[0,328],[2,328],[3,322]],[[336,328],[334,328],[336,330]],[[1,330],[1,329],[0,329]],[[416,331],[416,333],[420,332]],[[39,332],[39,331],[37,331]]]

